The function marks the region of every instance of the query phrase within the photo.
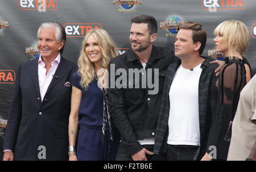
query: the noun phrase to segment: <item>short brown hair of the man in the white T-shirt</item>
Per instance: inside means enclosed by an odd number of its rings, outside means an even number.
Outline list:
[[[204,51],[205,44],[207,42],[207,33],[202,28],[202,25],[191,21],[186,21],[185,23],[179,25],[178,31],[180,29],[192,30],[193,42],[201,42],[201,46],[199,49],[199,54],[201,55]]]

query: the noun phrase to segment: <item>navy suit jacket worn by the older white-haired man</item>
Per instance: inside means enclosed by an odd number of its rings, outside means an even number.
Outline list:
[[[42,102],[38,59],[20,65],[3,145],[3,149],[13,150],[14,160],[45,160],[43,155],[46,160],[68,160],[72,87],[64,84],[72,82],[76,70],[75,63],[61,57]]]

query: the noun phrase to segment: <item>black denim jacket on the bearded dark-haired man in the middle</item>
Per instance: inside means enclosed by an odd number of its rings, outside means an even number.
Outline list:
[[[142,64],[135,57],[132,50],[127,53],[118,55],[110,62],[110,88],[109,92],[109,110],[113,118],[113,122],[121,134],[121,141],[127,146],[130,154],[137,153],[142,149],[138,140],[154,137],[156,130],[156,122],[160,109],[160,101],[162,100],[162,90],[167,67],[177,61],[177,57],[171,49],[158,48],[153,46],[152,53],[146,65],[146,72],[141,72],[139,78],[125,75],[122,88],[111,85],[118,81],[120,76],[124,74],[113,75],[120,68],[125,69],[142,69]],[[114,66],[113,66],[114,65]],[[158,69],[159,73],[154,72],[150,75],[148,69]],[[113,72],[114,71],[114,72]],[[138,74],[138,72],[135,72]],[[148,94],[147,87],[142,87],[142,78],[145,76],[150,78],[159,78],[159,82],[155,83],[159,86],[157,94]],[[153,79],[154,81],[154,79]],[[135,88],[136,84],[140,84],[139,88]],[[115,83],[116,84],[116,83]],[[128,86],[127,86],[128,85]],[[125,88],[125,87],[131,88]]]

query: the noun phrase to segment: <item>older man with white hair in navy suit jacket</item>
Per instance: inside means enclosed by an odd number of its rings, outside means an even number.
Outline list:
[[[68,160],[70,82],[76,64],[62,57],[63,26],[42,23],[40,57],[20,65],[10,104],[3,160]]]

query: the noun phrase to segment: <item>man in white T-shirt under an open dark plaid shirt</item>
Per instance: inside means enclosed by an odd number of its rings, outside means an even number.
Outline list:
[[[167,152],[167,160],[199,160],[203,157],[211,120],[210,89],[218,65],[204,58],[207,34],[200,24],[179,26],[175,55],[168,67],[155,134],[154,154]]]

